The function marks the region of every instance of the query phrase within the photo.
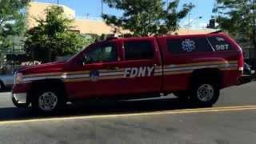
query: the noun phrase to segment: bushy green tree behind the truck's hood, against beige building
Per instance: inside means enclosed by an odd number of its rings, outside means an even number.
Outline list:
[[[36,19],[38,26],[26,32],[25,49],[34,60],[52,62],[57,56],[75,54],[86,38],[72,31],[72,19],[66,18],[61,6],[45,10],[46,18]]]

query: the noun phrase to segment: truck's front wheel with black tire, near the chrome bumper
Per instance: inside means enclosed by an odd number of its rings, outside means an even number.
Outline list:
[[[53,113],[62,110],[65,105],[59,90],[42,90],[32,100],[32,108],[42,113]]]

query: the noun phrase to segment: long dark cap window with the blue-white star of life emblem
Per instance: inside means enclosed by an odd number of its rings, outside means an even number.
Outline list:
[[[213,51],[206,38],[167,39],[168,50],[172,54],[191,54]]]

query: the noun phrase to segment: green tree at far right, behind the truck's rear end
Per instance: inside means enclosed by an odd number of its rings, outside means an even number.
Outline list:
[[[255,0],[216,0],[214,13],[218,13],[219,28],[234,38],[247,41],[256,49]]]

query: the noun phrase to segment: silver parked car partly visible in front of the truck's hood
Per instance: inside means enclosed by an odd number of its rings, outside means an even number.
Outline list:
[[[14,74],[0,75],[0,90],[14,86]]]

